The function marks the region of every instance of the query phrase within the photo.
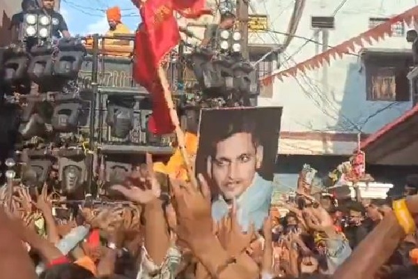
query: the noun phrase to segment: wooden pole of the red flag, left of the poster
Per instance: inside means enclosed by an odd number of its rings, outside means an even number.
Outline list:
[[[187,175],[189,176],[190,183],[192,183],[194,187],[198,188],[196,176],[194,175],[192,165],[190,164],[189,155],[187,154],[186,150],[185,134],[180,128],[180,121],[178,120],[178,115],[176,109],[174,108],[173,98],[171,97],[169,81],[167,80],[167,75],[161,64],[158,67],[158,77],[160,77],[162,89],[164,91],[164,98],[167,102],[167,106],[169,107],[171,122],[173,122],[175,128],[174,131],[176,132],[178,149],[180,149],[181,156],[183,157],[183,161],[187,169]]]

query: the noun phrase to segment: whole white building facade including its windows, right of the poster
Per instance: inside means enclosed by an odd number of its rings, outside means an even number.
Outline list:
[[[249,34],[249,43],[281,44],[293,2],[252,1],[250,14],[266,17],[267,24],[261,24],[264,31]],[[261,106],[284,107],[277,165],[280,186],[294,187],[304,163],[324,174],[332,170],[350,156],[358,140],[412,107],[406,77],[412,54],[405,34],[414,26],[403,21],[392,24],[392,36],[375,36],[378,41],[364,32],[415,6],[412,0],[370,0],[361,6],[350,0],[306,1],[295,37],[279,55],[279,68],[269,61],[262,65],[266,74],[303,69],[274,77],[269,84],[272,94],[258,99]],[[316,67],[301,66],[359,35],[346,52],[328,57],[329,63],[325,58]]]

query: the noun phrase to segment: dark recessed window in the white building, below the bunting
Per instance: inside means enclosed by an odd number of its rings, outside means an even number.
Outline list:
[[[409,101],[409,68],[366,63],[367,100]]]

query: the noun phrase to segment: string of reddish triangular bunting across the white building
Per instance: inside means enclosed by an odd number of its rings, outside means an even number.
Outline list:
[[[356,46],[364,47],[364,45],[373,45],[373,40],[379,42],[379,40],[384,39],[386,35],[392,36],[392,25],[398,22],[405,22],[406,24],[411,25],[415,16],[418,18],[418,6],[415,6],[414,8],[411,8],[404,13],[396,15],[386,22],[383,22],[382,24],[379,24],[378,26],[359,34],[359,36],[350,38],[350,40],[346,40],[343,43],[330,48],[330,50],[318,54],[306,61],[298,63],[291,68],[261,77],[261,84],[271,84],[274,77],[277,77],[279,80],[283,81],[284,77],[294,77],[298,72],[304,73],[307,70],[315,70],[323,66],[325,62],[330,65],[331,59],[336,59],[337,56],[342,59],[343,54],[354,52]]]

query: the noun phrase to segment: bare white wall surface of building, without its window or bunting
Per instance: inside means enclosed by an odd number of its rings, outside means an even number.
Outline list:
[[[268,15],[269,28],[280,32],[286,32],[293,2],[252,1],[256,13]],[[296,35],[320,41],[321,38],[315,38],[314,30],[310,27],[311,16],[330,16],[343,2],[346,3],[335,15],[335,29],[330,30],[330,46],[343,43],[368,30],[370,17],[392,17],[417,4],[413,0],[308,0]],[[272,32],[253,33],[249,36],[249,41],[280,43],[284,38],[285,36]],[[290,68],[295,63],[322,52],[322,46],[306,42],[307,40],[301,38],[293,38],[291,45],[281,56],[282,65],[279,70]],[[297,52],[302,45],[305,46]],[[410,45],[405,38],[393,37],[365,47],[408,49]],[[359,49],[356,50],[358,51]],[[259,105],[284,107],[281,119],[281,130],[284,131],[357,133],[362,130],[363,133],[373,133],[412,107],[411,102],[391,105],[391,102],[366,100],[364,67],[359,56],[354,55],[344,55],[343,59],[337,58],[336,61],[331,61],[330,66],[318,70],[298,73],[296,77],[285,77],[283,82],[274,79],[273,86],[272,98],[259,98]],[[376,115],[372,116],[373,114]]]

